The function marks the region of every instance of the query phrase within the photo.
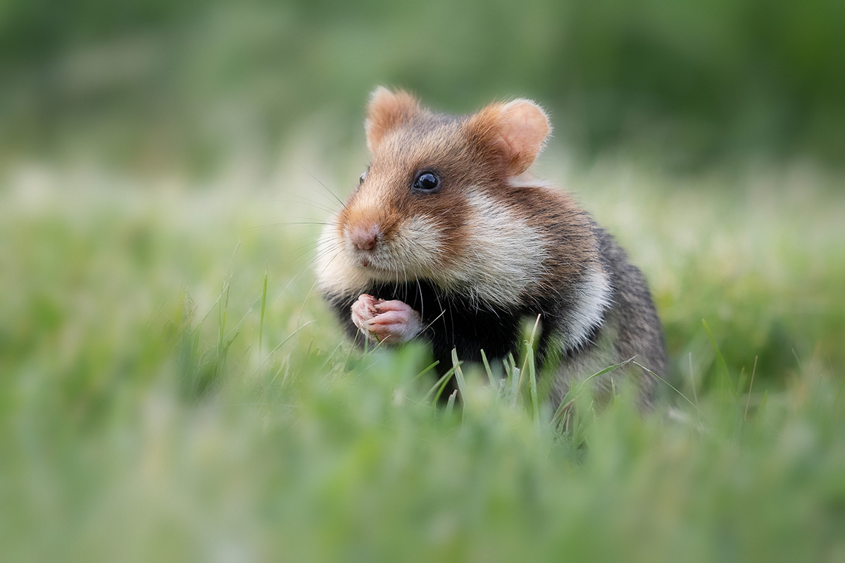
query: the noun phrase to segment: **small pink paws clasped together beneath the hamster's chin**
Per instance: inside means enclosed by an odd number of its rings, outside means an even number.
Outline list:
[[[407,342],[423,330],[419,313],[405,302],[366,294],[352,305],[352,322],[368,338],[390,344]]]

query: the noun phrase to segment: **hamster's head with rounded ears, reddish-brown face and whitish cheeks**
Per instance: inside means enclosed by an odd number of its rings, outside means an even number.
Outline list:
[[[466,277],[473,241],[496,222],[488,215],[551,127],[530,100],[446,116],[379,87],[365,129],[372,161],[324,232],[321,252],[335,264],[324,260],[320,277],[449,284]]]

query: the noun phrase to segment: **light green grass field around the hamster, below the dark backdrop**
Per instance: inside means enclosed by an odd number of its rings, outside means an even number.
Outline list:
[[[845,558],[841,179],[547,176],[651,281],[651,415],[581,394],[561,433],[525,357],[499,385],[460,365],[437,407],[423,350],[351,349],[313,291],[308,174],[9,171],[0,559]]]

